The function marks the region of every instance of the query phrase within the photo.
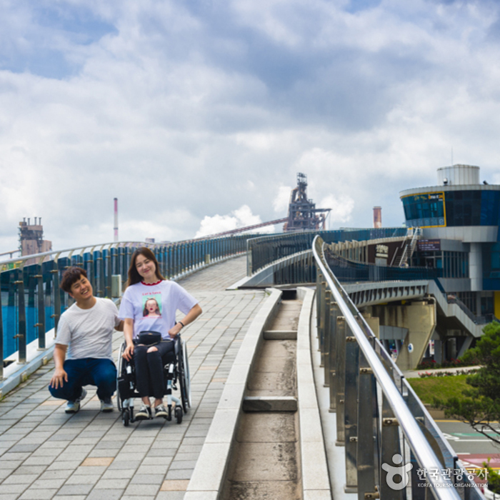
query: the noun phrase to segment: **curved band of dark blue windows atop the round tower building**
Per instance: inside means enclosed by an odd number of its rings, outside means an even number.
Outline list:
[[[500,191],[441,191],[404,196],[407,226],[498,226]]]

